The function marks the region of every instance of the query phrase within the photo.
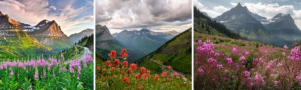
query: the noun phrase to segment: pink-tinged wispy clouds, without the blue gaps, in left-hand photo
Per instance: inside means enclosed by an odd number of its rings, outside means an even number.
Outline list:
[[[35,26],[44,19],[55,20],[64,32],[67,29],[80,27],[80,23],[93,22],[93,16],[78,17],[81,12],[93,8],[93,6],[75,8],[72,6],[72,3],[69,3],[65,7],[60,7],[62,8],[58,9],[53,5],[49,5],[48,0],[0,1],[0,8],[3,14],[8,14],[11,19],[30,24],[31,26]],[[59,10],[60,14],[49,13],[50,10]],[[74,32],[64,33],[68,36]]]

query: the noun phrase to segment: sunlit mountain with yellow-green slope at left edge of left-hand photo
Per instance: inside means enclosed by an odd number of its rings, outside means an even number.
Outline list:
[[[52,48],[42,45],[36,40],[29,37],[26,32],[20,27],[29,26],[19,21],[11,19],[7,14],[4,15],[0,11],[0,45],[7,46],[13,51],[15,55],[39,55],[39,54],[53,54],[47,53]]]

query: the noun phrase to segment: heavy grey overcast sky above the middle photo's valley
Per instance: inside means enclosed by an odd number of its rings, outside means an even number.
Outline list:
[[[96,23],[110,33],[150,29],[155,32],[191,28],[191,0],[96,0]]]

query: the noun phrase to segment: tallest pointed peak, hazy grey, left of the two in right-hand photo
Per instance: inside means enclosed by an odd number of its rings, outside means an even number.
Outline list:
[[[230,30],[246,36],[251,41],[259,41],[274,46],[283,46],[282,44],[286,43],[283,38],[269,33],[262,23],[251,15],[247,7],[241,6],[240,3],[214,19],[223,23]]]

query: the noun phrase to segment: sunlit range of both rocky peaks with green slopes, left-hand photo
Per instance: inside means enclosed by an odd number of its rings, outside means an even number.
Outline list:
[[[54,55],[73,45],[73,41],[61,31],[53,20],[42,20],[35,26],[11,19],[0,11],[0,44],[13,54]]]

